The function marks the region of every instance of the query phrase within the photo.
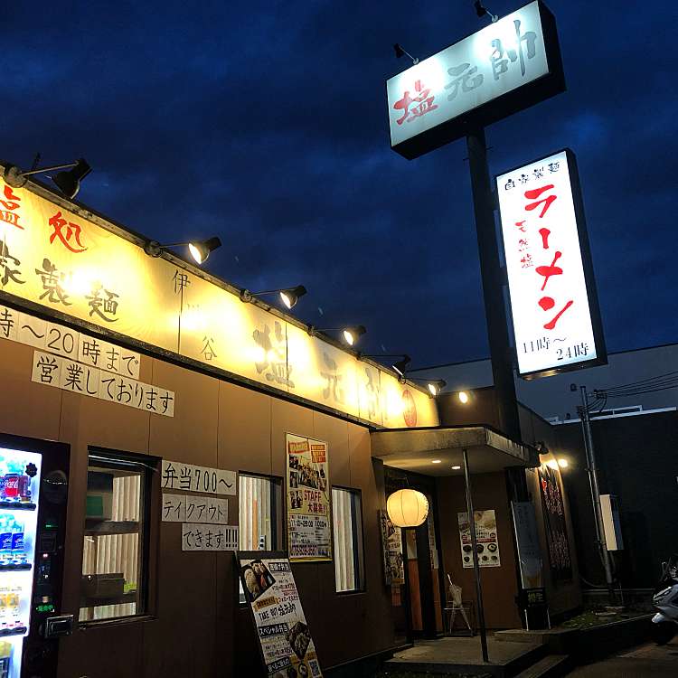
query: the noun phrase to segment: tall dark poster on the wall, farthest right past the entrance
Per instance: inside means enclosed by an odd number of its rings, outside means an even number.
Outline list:
[[[550,466],[541,466],[539,488],[551,575],[555,581],[568,581],[572,579],[572,560],[559,475],[558,471]]]

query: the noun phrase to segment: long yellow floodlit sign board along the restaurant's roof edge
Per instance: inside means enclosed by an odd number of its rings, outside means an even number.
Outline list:
[[[240,301],[239,289],[180,259],[149,257],[144,244],[42,184],[12,188],[0,179],[6,306],[376,426],[438,425],[428,393],[286,315]],[[0,317],[0,339],[15,331]]]

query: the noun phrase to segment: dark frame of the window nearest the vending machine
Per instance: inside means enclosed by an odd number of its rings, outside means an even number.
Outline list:
[[[155,574],[157,572],[157,552],[159,548],[159,522],[160,522],[160,457],[153,457],[143,453],[127,452],[124,450],[112,449],[110,447],[101,447],[90,445],[87,448],[87,466],[85,470],[85,493],[83,497],[83,520],[82,520],[82,538],[80,544],[84,548],[84,538],[87,520],[87,476],[90,466],[100,466],[101,468],[111,468],[127,470],[130,466],[138,467],[141,472],[140,481],[140,507],[139,507],[139,548],[141,549],[141,558],[139,559],[139,584],[141,594],[139,595],[137,608],[142,611],[134,615],[124,615],[118,617],[106,617],[103,619],[85,619],[78,621],[78,626],[102,626],[110,624],[130,624],[139,621],[146,621],[149,618],[155,618],[155,594],[156,583]],[[157,509],[157,510],[154,510]],[[154,519],[155,517],[155,519]],[[82,577],[82,557],[80,557],[80,578]],[[79,605],[78,614],[80,616],[80,590],[79,586]],[[94,606],[98,607],[98,606]]]

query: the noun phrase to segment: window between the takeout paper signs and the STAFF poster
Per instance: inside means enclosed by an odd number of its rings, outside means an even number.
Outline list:
[[[282,535],[282,481],[269,476],[238,474],[240,551],[276,551]],[[240,584],[240,602],[245,594]]]

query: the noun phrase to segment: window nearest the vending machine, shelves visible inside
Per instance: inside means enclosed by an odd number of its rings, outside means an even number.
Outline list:
[[[146,614],[153,457],[90,450],[80,622]]]

